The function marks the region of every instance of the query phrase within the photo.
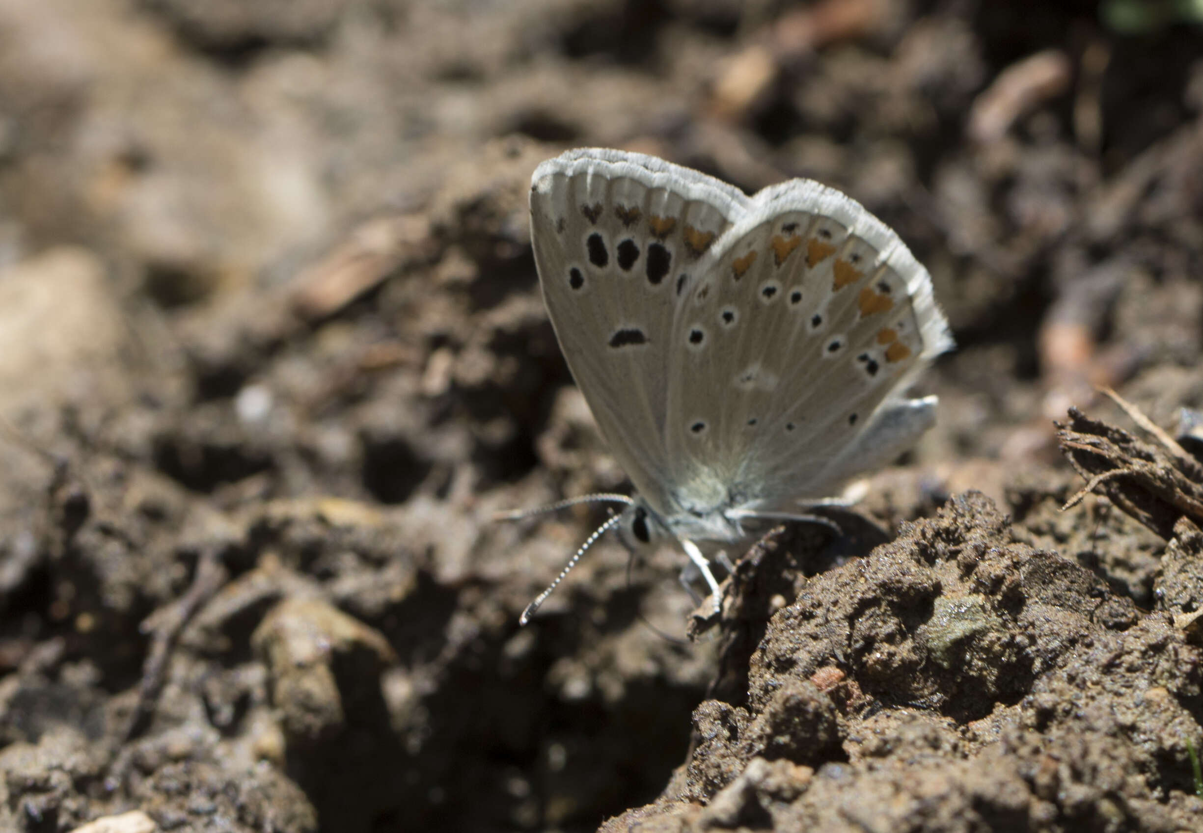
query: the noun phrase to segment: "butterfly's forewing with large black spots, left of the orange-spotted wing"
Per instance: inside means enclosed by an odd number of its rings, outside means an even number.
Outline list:
[[[535,263],[564,358],[612,453],[662,513],[675,508],[664,441],[674,310],[746,200],[614,150],[569,151],[533,177]]]

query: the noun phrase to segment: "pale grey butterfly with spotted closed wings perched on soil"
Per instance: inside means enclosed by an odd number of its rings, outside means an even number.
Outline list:
[[[748,197],[597,148],[543,162],[531,182],[552,327],[636,496],[535,510],[624,505],[522,624],[615,526],[626,541],[677,541],[717,611],[699,542],[742,541],[755,520],[817,520],[799,513],[807,498],[889,463],[934,424],[936,397],[905,391],[953,346],[948,322],[928,270],[851,197],[807,179]]]

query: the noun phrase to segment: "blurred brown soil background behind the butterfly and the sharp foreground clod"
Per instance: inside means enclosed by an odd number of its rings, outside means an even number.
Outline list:
[[[652,801],[715,674],[646,624],[683,635],[680,557],[599,546],[520,630],[604,514],[490,523],[624,486],[538,292],[534,166],[811,177],[899,231],[959,350],[889,526],[1063,500],[1051,420],[1110,412],[1095,385],[1203,405],[1201,114],[1185,0],[0,0],[0,827]],[[1148,605],[1154,569],[1108,576]]]

